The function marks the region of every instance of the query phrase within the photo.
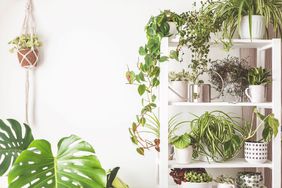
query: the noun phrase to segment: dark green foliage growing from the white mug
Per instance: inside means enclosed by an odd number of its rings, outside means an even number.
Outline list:
[[[271,73],[262,67],[254,67],[248,71],[249,85],[262,85],[270,83]]]

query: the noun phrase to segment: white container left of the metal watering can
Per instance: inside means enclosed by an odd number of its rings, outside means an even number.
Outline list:
[[[169,82],[168,101],[169,102],[185,102],[188,93],[187,81],[171,81]]]

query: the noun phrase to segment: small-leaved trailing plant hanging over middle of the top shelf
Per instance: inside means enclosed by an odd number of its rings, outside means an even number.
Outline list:
[[[214,22],[213,15],[205,12],[206,3],[201,2],[199,10],[192,10],[182,13],[180,16],[185,22],[179,30],[180,40],[177,47],[177,54],[187,46],[192,52],[191,63],[188,68],[191,70],[192,80],[194,83],[198,80],[199,75],[208,71],[208,58],[210,48],[210,34],[220,31],[221,22]]]

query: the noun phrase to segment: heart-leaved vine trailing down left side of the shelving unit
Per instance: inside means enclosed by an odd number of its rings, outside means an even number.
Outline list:
[[[144,155],[145,150],[151,148],[160,151],[159,137],[155,137],[153,140],[145,139],[141,135],[141,132],[144,132],[142,128],[145,128],[146,117],[152,116],[153,110],[157,107],[156,89],[160,84],[159,63],[165,62],[169,58],[178,59],[176,51],[171,51],[169,57],[161,54],[162,38],[171,36],[171,33],[169,33],[169,22],[175,22],[177,28],[179,28],[182,19],[176,13],[168,10],[150,18],[145,27],[147,42],[139,48],[139,55],[142,57],[142,60],[138,60],[138,70],[135,72],[128,68],[126,72],[128,83],[136,85],[138,93],[141,96],[142,109],[129,128],[131,141],[136,144],[136,150],[141,155]]]

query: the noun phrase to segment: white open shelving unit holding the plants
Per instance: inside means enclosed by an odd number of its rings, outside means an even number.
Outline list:
[[[162,54],[168,55],[171,48],[177,46],[178,39],[170,40],[164,38],[162,41]],[[220,44],[212,44],[221,48]],[[211,103],[168,103],[168,63],[161,63],[160,72],[160,139],[161,151],[159,155],[159,172],[158,184],[160,188],[172,187],[169,185],[169,169],[170,168],[269,168],[272,171],[272,187],[281,187],[281,131],[272,141],[272,161],[264,164],[250,164],[242,158],[237,158],[223,163],[193,161],[191,164],[177,164],[175,161],[168,159],[168,112],[170,106],[177,107],[257,107],[262,111],[271,109],[275,117],[281,123],[281,39],[272,40],[233,40],[233,48],[257,48],[257,65],[265,66],[264,57],[265,50],[272,48],[272,102],[265,103],[227,103],[227,102],[211,102]],[[281,125],[279,130],[281,130]],[[175,187],[175,186],[174,186]]]

